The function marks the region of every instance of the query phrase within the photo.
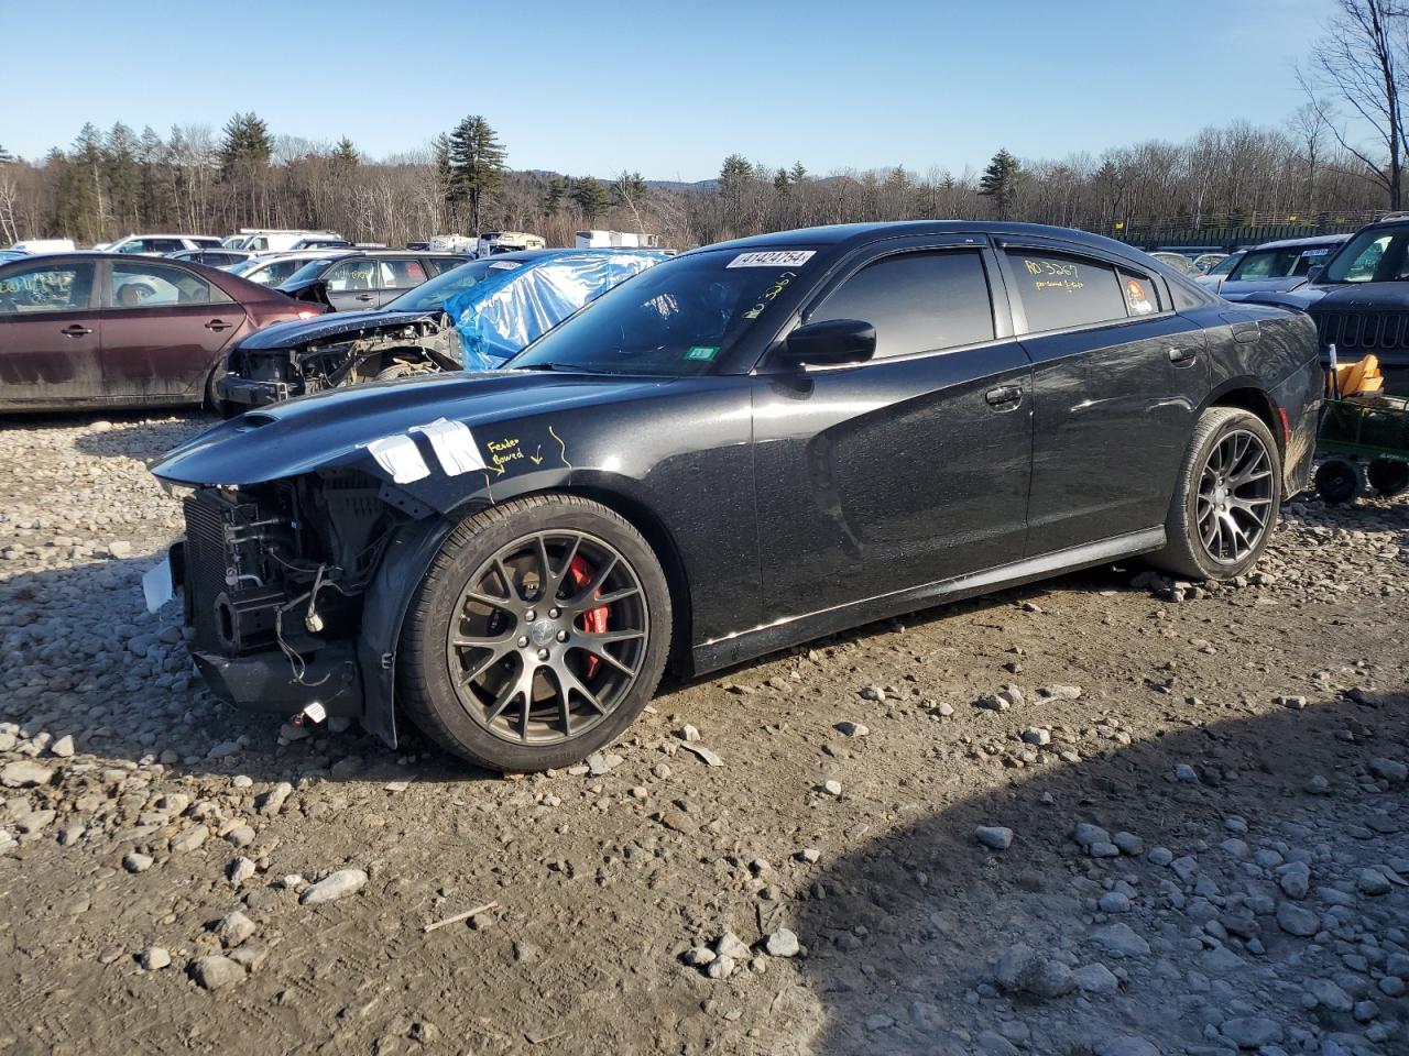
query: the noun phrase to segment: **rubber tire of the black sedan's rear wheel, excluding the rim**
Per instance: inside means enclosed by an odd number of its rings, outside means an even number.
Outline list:
[[[1268,507],[1265,528],[1251,551],[1236,562],[1223,562],[1215,559],[1208,552],[1199,536],[1199,479],[1208,466],[1209,458],[1217,449],[1219,442],[1237,429],[1253,434],[1267,449],[1272,470],[1272,503]],[[1239,407],[1209,407],[1199,415],[1199,421],[1193,427],[1193,435],[1189,438],[1184,462],[1179,465],[1174,500],[1169,503],[1169,517],[1164,527],[1165,546],[1147,560],[1157,569],[1191,580],[1239,576],[1253,567],[1262,556],[1262,551],[1267,549],[1267,542],[1277,525],[1281,504],[1282,458],[1277,449],[1277,441],[1272,439],[1272,434],[1268,431],[1265,422],[1255,414]]]

